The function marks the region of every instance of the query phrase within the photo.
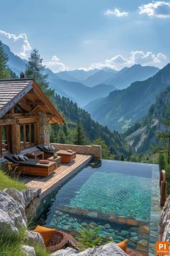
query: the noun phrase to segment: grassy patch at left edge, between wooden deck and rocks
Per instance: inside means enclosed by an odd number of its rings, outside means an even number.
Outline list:
[[[9,187],[19,191],[27,188],[27,186],[24,183],[19,182],[18,179],[8,176],[4,171],[0,171],[0,189],[3,190]]]

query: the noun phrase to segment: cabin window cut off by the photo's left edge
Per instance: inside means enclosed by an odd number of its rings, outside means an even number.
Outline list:
[[[0,155],[5,155],[10,151],[10,126],[0,127]]]

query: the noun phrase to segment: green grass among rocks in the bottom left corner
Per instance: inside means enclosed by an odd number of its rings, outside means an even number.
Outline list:
[[[30,245],[24,242],[27,228],[19,229],[18,234],[9,234],[8,232],[0,232],[0,255],[1,256],[25,256],[22,251],[22,245]],[[50,254],[40,245],[35,247],[36,256],[50,256]]]

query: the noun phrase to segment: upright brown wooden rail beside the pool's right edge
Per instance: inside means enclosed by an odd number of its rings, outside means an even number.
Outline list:
[[[166,182],[166,171],[162,170],[160,173],[160,179],[159,179],[159,187],[160,187],[160,205],[164,206],[167,196],[167,182]]]

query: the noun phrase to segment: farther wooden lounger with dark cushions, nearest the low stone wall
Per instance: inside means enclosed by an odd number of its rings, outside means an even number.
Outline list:
[[[47,145],[42,144],[37,145],[37,148],[44,152],[45,159],[48,159],[49,161],[53,161],[52,158],[54,153],[57,153],[58,156],[61,156],[61,163],[70,163],[76,158],[76,152],[72,150],[57,150],[54,147],[48,148]]]

